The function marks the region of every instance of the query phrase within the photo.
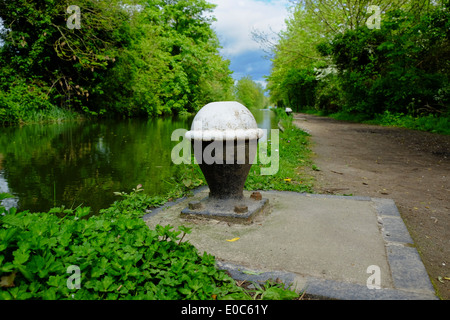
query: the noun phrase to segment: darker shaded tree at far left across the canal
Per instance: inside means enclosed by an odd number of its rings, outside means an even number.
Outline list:
[[[6,31],[2,90],[26,85],[45,91],[45,98],[64,108],[86,108],[104,70],[127,45],[127,11],[118,0],[77,0],[82,28],[69,28],[68,1],[0,1]],[[126,2],[125,2],[126,3]],[[2,106],[5,108],[5,106]]]

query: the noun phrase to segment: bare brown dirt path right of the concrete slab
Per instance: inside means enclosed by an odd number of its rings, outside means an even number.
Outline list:
[[[294,119],[312,135],[315,192],[393,199],[439,296],[450,300],[450,136]]]

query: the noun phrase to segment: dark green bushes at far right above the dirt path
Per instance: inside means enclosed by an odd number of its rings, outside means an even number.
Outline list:
[[[345,101],[342,110],[368,117],[385,110],[411,115],[448,112],[448,10],[419,22],[389,12],[380,30],[358,28],[332,44]],[[444,22],[446,20],[446,22]],[[440,61],[441,60],[441,61]]]

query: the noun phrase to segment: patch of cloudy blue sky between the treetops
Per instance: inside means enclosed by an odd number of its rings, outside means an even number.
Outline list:
[[[275,36],[285,28],[289,0],[209,0],[217,7],[213,24],[222,56],[229,59],[233,78],[250,75],[265,86],[264,76],[270,74],[271,62],[260,45],[252,40],[252,30]]]

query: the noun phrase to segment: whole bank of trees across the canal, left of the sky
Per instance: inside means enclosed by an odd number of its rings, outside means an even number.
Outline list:
[[[81,28],[69,29],[65,0],[0,3],[0,121],[24,121],[17,90],[93,117],[193,112],[232,95],[229,61],[218,53],[205,0],[76,0]],[[23,81],[18,79],[24,79]],[[42,109],[33,96],[33,109]],[[36,101],[35,101],[36,100]]]

